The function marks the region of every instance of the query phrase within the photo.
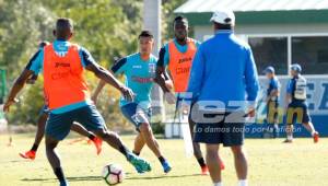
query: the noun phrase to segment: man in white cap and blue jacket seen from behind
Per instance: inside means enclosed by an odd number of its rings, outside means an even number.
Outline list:
[[[191,108],[196,142],[206,143],[207,163],[214,186],[221,186],[219,147],[230,147],[238,185],[247,185],[247,160],[243,150],[245,117],[255,116],[259,90],[250,47],[234,33],[235,15],[215,11],[214,37],[202,43],[192,62],[188,92],[197,101]],[[245,101],[247,93],[247,100]]]

